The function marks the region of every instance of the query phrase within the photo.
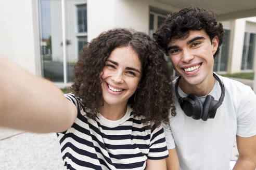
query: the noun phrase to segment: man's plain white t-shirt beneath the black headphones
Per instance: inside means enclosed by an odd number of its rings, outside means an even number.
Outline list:
[[[186,116],[175,96],[177,115],[170,117],[170,127],[165,127],[164,133],[168,149],[177,151],[181,170],[229,169],[236,135],[256,134],[256,95],[245,84],[219,77],[225,87],[225,97],[214,119],[203,121]],[[187,96],[180,88],[178,93],[181,97]],[[219,100],[221,87],[217,80],[209,94]],[[202,102],[205,97],[200,97]]]

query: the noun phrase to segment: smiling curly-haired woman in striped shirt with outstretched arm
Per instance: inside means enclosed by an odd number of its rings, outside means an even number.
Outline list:
[[[75,95],[3,59],[0,81],[0,125],[58,132],[67,169],[166,169],[170,73],[146,34],[114,29],[88,43],[74,67]]]

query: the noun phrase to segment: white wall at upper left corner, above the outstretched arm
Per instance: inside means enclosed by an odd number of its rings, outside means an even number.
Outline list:
[[[0,1],[0,55],[40,75],[35,6],[34,0]]]

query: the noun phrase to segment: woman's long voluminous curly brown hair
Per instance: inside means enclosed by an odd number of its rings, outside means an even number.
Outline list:
[[[128,101],[134,116],[144,116],[142,122],[145,124],[169,124],[169,109],[175,116],[175,106],[169,84],[172,79],[164,54],[148,35],[127,29],[101,33],[80,53],[80,59],[74,66],[72,89],[82,99],[83,105],[91,110],[86,112],[86,116],[95,120],[97,108],[103,105],[102,79],[99,77],[110,53],[118,47],[127,46],[137,52],[143,70],[136,95],[133,94]]]

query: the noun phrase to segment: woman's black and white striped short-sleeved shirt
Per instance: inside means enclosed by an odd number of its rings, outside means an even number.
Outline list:
[[[94,121],[86,117],[80,98],[66,97],[80,108],[73,125],[57,133],[67,169],[145,169],[147,159],[168,157],[162,126],[145,129],[130,106],[120,120],[99,114]]]

